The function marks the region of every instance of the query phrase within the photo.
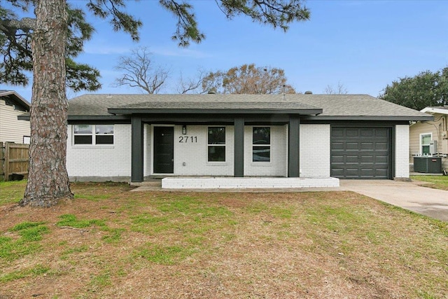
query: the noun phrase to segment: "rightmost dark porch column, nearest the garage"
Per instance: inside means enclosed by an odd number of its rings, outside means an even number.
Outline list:
[[[288,124],[288,177],[300,176],[300,117],[290,116]]]

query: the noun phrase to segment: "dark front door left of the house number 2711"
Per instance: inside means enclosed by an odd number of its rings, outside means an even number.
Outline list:
[[[174,173],[174,127],[154,127],[155,174]]]

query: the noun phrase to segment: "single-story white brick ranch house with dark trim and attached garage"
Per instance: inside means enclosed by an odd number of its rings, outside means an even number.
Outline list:
[[[408,179],[409,121],[432,119],[369,95],[82,95],[66,167],[72,181]]]

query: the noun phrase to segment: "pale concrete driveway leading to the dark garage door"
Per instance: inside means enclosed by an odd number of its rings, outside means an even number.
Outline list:
[[[391,180],[340,180],[342,190],[448,221],[448,191],[420,186],[421,182]]]

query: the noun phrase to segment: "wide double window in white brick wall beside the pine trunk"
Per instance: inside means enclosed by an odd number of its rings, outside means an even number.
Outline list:
[[[73,144],[113,144],[113,125],[73,125]]]

